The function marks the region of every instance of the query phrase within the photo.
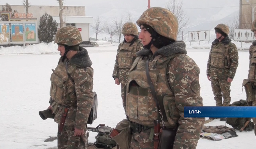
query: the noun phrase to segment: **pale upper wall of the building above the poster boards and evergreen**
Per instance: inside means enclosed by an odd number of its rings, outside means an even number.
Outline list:
[[[0,5],[0,8],[5,5]],[[63,16],[85,16],[84,6],[63,6]],[[26,13],[26,7],[23,5],[11,5],[12,10],[17,10],[18,13]],[[48,13],[51,16],[59,16],[59,6],[34,6],[29,7],[28,12],[33,13],[33,18],[37,18],[39,25],[39,20],[42,15]]]

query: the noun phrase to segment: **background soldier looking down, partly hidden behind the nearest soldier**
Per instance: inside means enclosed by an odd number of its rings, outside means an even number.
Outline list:
[[[135,23],[127,22],[122,27],[124,40],[121,42],[117,49],[116,62],[112,77],[115,84],[121,83],[121,97],[124,107],[124,87],[127,83],[129,69],[136,58],[136,52],[143,48],[141,40],[138,39],[138,29]],[[125,107],[124,107],[125,109]]]

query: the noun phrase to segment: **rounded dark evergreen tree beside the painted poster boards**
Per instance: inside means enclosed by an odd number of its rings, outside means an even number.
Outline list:
[[[54,36],[58,30],[58,24],[53,20],[52,16],[45,13],[40,17],[38,27],[38,39],[41,42],[50,43],[54,40]]]

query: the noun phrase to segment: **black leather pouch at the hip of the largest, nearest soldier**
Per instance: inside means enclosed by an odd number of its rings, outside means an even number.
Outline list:
[[[177,129],[161,128],[158,149],[172,149]]]

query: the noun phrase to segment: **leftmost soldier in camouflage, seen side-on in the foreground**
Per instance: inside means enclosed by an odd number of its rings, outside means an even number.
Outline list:
[[[87,120],[93,104],[93,69],[88,52],[79,44],[82,37],[74,26],[60,28],[54,43],[58,44],[61,58],[50,81],[50,106],[54,121],[58,123],[64,114],[61,134],[58,132],[58,149],[86,149]],[[58,130],[59,131],[59,130]]]

